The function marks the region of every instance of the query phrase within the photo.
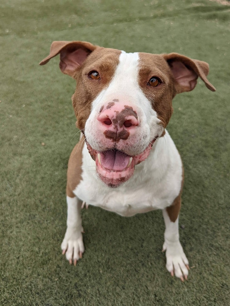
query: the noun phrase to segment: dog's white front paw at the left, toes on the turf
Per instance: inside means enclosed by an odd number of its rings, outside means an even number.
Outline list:
[[[83,230],[83,228],[82,228]],[[82,232],[79,229],[67,228],[65,237],[61,244],[62,254],[66,254],[66,259],[70,264],[77,264],[85,251]]]

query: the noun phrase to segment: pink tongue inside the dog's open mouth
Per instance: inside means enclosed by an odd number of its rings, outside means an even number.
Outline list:
[[[130,156],[117,151],[101,153],[102,166],[108,170],[122,171],[128,166]]]

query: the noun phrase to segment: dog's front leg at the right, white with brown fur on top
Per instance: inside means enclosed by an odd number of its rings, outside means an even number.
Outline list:
[[[178,219],[180,210],[180,195],[174,203],[163,209],[165,222],[163,251],[166,250],[166,268],[173,276],[174,274],[182,281],[187,279],[189,262],[179,241]]]

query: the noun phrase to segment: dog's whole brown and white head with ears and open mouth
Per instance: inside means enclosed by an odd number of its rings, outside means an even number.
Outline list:
[[[86,42],[54,42],[46,64],[60,53],[60,69],[77,81],[72,102],[77,124],[96,161],[101,180],[110,187],[127,181],[134,166],[164,135],[172,99],[194,89],[209,66],[180,54],[125,53]]]

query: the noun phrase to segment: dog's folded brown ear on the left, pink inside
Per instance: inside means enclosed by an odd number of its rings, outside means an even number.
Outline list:
[[[75,70],[96,48],[97,46],[85,41],[54,41],[50,48],[50,54],[39,65],[45,65],[51,58],[60,53],[59,67],[61,71],[73,77]]]

